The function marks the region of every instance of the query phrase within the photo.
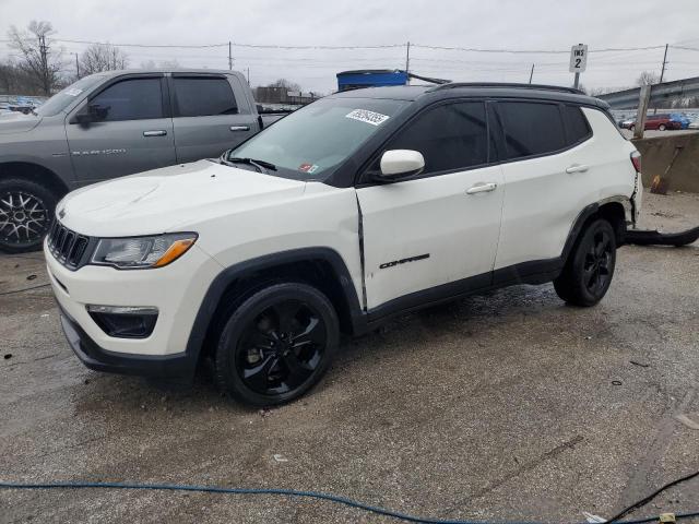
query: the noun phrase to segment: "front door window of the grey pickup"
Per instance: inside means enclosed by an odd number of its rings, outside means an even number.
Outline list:
[[[163,118],[161,79],[129,79],[110,85],[90,100],[106,109],[104,121]]]

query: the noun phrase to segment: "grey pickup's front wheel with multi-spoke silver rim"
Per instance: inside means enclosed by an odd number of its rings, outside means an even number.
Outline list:
[[[0,180],[0,251],[24,253],[42,248],[58,196],[32,180]]]

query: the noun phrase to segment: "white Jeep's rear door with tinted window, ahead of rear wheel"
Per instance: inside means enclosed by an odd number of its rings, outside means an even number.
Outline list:
[[[574,105],[499,102],[497,111],[507,162],[496,279],[553,271],[578,214],[597,202],[605,187],[600,165],[606,160],[597,158],[602,144]],[[513,269],[523,263],[530,264]],[[498,272],[506,269],[512,271]]]

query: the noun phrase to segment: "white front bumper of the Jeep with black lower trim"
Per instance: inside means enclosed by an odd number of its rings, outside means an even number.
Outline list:
[[[179,371],[179,364],[164,362],[188,362],[189,353],[198,358],[200,347],[191,347],[189,338],[204,294],[221,266],[197,246],[165,267],[132,271],[96,265],[72,271],[56,260],[46,243],[44,252],[63,330],[87,367],[169,376]],[[95,322],[87,311],[90,305],[153,307],[158,318],[149,336],[116,337]]]

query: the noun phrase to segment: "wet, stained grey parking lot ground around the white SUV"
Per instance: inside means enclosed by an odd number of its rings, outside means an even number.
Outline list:
[[[645,195],[648,226],[699,224],[699,195]],[[0,257],[0,480],[333,492],[422,516],[581,522],[699,469],[699,246],[625,247],[606,298],[517,286],[345,341],[300,401],[251,410],[85,369],[40,253]],[[699,511],[699,478],[632,516]],[[322,501],[0,490],[1,522],[395,522]]]

